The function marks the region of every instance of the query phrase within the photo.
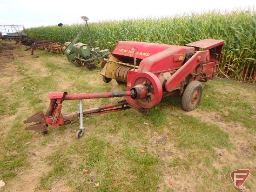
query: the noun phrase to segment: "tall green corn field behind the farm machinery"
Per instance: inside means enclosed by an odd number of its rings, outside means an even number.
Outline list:
[[[80,18],[78,18],[80,20]],[[29,37],[64,42],[74,39],[91,45],[86,25],[42,26],[27,29]],[[225,40],[218,76],[256,83],[256,11],[193,13],[163,18],[115,20],[90,23],[94,45],[113,51],[118,41],[185,45],[202,39]],[[67,37],[65,33],[67,34]]]

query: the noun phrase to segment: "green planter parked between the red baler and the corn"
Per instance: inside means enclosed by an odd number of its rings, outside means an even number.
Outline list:
[[[87,25],[88,33],[93,45],[92,48],[85,43],[76,43],[82,33],[82,29],[80,29],[74,40],[64,44],[66,49],[63,51],[63,54],[66,54],[68,61],[75,64],[76,66],[84,66],[89,70],[96,67],[101,67],[102,63],[105,63],[103,59],[109,58],[109,51],[108,49],[100,50],[99,47],[94,46],[94,42],[87,23],[89,18],[86,16],[81,16],[81,19],[84,20]],[[62,24],[60,23],[58,26],[62,26]]]

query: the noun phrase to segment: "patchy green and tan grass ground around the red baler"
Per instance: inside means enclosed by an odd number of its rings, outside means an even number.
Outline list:
[[[100,70],[69,63],[64,55],[0,41],[0,192],[238,192],[235,169],[250,169],[244,188],[256,191],[256,86],[214,79],[200,105],[181,108],[181,97],[162,99],[143,115],[132,109],[79,123],[25,131],[23,120],[46,112],[49,92],[123,91]],[[122,98],[83,100],[85,108]],[[77,111],[64,101],[62,112]]]

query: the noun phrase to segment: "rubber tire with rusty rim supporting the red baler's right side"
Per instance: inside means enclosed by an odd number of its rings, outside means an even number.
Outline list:
[[[198,104],[200,103],[201,97],[202,97],[202,83],[197,80],[191,81],[189,85],[186,87],[182,96],[182,109],[184,111],[194,110],[196,106],[198,106]]]

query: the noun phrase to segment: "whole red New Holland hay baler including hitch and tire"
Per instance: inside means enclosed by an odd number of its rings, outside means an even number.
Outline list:
[[[38,112],[24,120],[24,123],[37,122],[25,129],[47,133],[49,124],[55,127],[80,121],[80,127],[75,134],[78,139],[84,133],[84,116],[130,108],[146,114],[148,109],[158,105],[163,97],[174,94],[182,95],[183,110],[191,111],[200,102],[201,82],[213,79],[216,75],[223,44],[223,40],[211,39],[196,41],[186,46],[120,41],[102,73],[109,79],[115,77],[121,82],[126,82],[125,92],[71,95],[67,92],[49,93],[50,105],[47,112]],[[134,64],[130,61],[134,61]],[[108,67],[112,71],[108,70]],[[107,76],[111,75],[110,72],[113,76]],[[111,97],[126,98],[115,104],[83,110],[82,99]],[[79,111],[61,113],[62,102],[74,99],[80,100]]]

